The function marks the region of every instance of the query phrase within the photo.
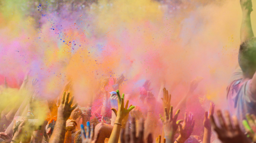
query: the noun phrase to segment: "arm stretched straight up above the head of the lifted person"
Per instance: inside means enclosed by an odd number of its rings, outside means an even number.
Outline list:
[[[252,12],[252,2],[251,0],[240,0],[241,8],[243,11],[243,19],[240,30],[241,43],[254,37],[252,27],[251,27],[251,17]]]

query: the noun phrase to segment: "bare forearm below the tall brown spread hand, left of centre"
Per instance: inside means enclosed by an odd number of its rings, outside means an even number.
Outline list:
[[[49,143],[63,143],[64,136],[66,133],[66,120],[65,119],[58,119],[54,126],[53,135],[50,138]]]

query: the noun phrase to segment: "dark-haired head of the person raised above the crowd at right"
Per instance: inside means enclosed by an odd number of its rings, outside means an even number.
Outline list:
[[[252,78],[256,71],[256,38],[251,38],[240,45],[239,65],[247,78]]]

